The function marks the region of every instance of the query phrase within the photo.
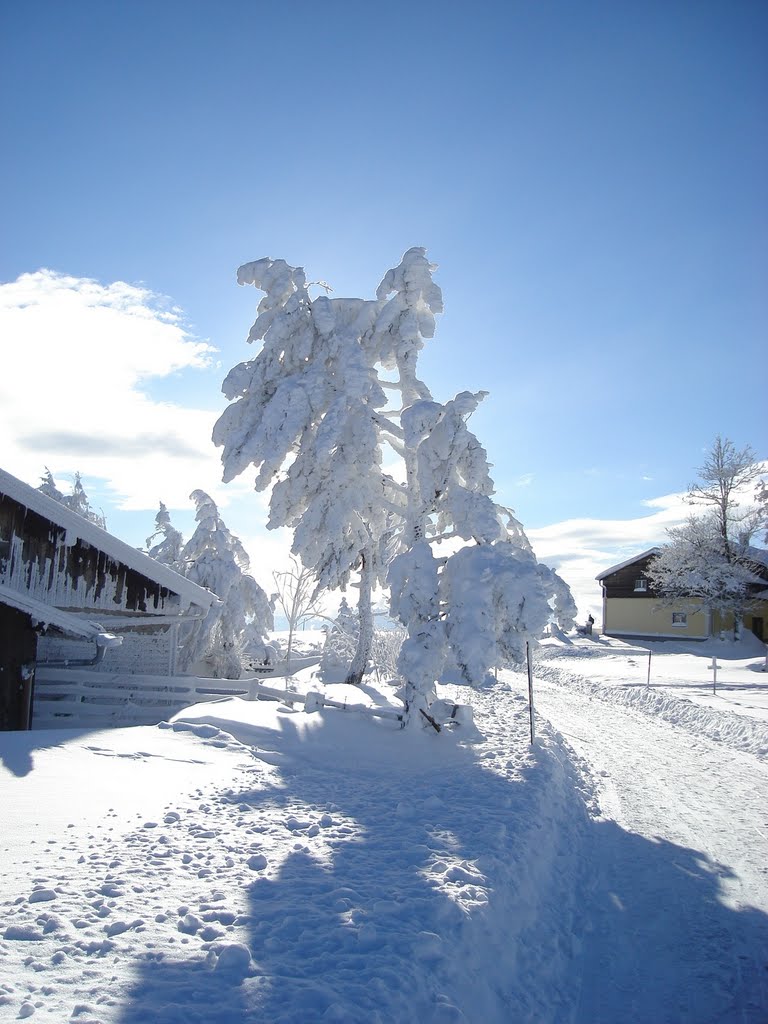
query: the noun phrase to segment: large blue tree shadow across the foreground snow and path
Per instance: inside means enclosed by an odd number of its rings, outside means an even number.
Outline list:
[[[280,788],[223,795],[256,831],[279,812],[294,833],[249,886],[238,935],[252,964],[147,952],[120,1024],[765,1020],[768,916],[725,905],[727,868],[586,810],[565,834],[559,811],[540,825],[557,784],[544,748],[512,778],[433,754],[408,770],[340,757],[337,772],[302,756]],[[318,855],[305,826],[322,815]]]

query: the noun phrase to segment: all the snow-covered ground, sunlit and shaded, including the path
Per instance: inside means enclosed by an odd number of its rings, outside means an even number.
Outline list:
[[[545,647],[534,748],[515,673],[472,735],[238,699],[3,734],[0,1020],[765,1021],[768,676],[712,697],[662,646],[650,696],[647,648]]]

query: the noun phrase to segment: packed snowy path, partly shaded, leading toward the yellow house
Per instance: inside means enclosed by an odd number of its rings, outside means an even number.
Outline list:
[[[537,710],[584,759],[602,812],[575,1021],[765,1022],[768,764],[541,674]]]

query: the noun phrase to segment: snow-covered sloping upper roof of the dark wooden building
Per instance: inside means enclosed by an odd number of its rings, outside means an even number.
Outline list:
[[[140,572],[141,575],[160,584],[161,587],[166,587],[172,593],[178,594],[187,604],[209,608],[217,599],[210,590],[199,587],[190,580],[186,580],[178,572],[168,568],[167,565],[163,565],[136,548],[132,548],[125,541],[108,534],[105,529],[101,529],[95,523],[84,519],[83,516],[68,509],[67,506],[61,505],[53,498],[48,498],[47,495],[31,487],[29,483],[24,483],[15,476],[11,476],[4,469],[0,469],[0,495],[7,495],[19,505],[24,505],[25,508],[37,512],[38,515],[57,526],[61,526],[67,530],[68,543],[75,544],[75,541],[79,539],[90,544],[97,551],[103,551],[104,554],[111,555],[116,561],[127,565],[128,568]]]

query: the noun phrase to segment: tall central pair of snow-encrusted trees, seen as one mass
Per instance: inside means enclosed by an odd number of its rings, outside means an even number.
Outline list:
[[[223,447],[225,480],[253,465],[257,489],[273,483],[268,525],[294,529],[294,552],[321,585],[344,587],[358,570],[360,628],[350,681],[359,680],[368,660],[372,588],[388,583],[392,613],[409,634],[400,672],[412,718],[426,712],[449,651],[468,643],[471,614],[461,609],[469,603],[447,601],[458,593],[456,579],[471,577],[470,566],[481,575],[482,558],[489,558],[524,575],[527,606],[513,613],[510,598],[507,632],[535,636],[549,617],[536,559],[527,541],[522,557],[519,537],[505,531],[484,450],[467,426],[484,392],[440,403],[417,376],[419,352],[442,310],[433,270],[424,249],[410,249],[385,274],[376,300],[312,301],[303,270],[282,260],[241,267],[239,282],[265,292],[249,337],[263,346],[227,375],[223,390],[232,404],[213,433]],[[400,461],[402,482],[383,472],[385,452]],[[456,553],[433,550],[443,541],[499,547],[493,557],[464,554],[449,571]],[[488,612],[497,613],[501,597]],[[483,628],[495,636],[501,630],[496,620],[483,620]],[[496,649],[496,641],[486,645]],[[467,663],[465,678],[479,684],[485,670],[475,672],[475,662]]]

